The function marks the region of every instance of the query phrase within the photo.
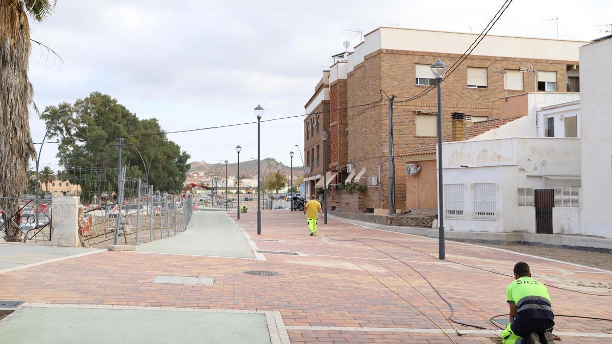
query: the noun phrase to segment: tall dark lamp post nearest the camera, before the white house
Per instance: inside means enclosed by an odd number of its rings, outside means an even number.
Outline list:
[[[436,86],[438,86],[438,231],[439,231],[439,247],[438,258],[444,260],[444,184],[442,184],[442,89],[440,84],[446,73],[446,63],[440,59],[433,62],[431,72],[436,77]]]

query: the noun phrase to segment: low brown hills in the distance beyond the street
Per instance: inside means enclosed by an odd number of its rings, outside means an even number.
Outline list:
[[[237,172],[238,165],[237,163],[228,163],[228,175],[235,176]],[[210,178],[211,174],[214,174],[216,170],[217,176],[221,176],[225,174],[225,164],[222,163],[207,163],[204,161],[195,161],[190,163],[189,172],[197,173],[204,172],[205,176]],[[278,162],[273,158],[266,158],[261,160],[261,171],[262,174],[267,175],[267,173],[274,173],[277,170],[280,170],[281,173],[289,176],[291,174],[291,168],[285,165],[282,162]],[[302,174],[304,171],[303,166],[293,166],[293,174],[296,176],[297,174]],[[257,178],[257,160],[246,160],[244,162],[240,162],[240,175],[247,178]]]

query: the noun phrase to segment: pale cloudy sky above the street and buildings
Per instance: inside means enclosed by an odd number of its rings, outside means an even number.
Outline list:
[[[73,103],[89,93],[111,95],[139,118],[157,118],[166,131],[304,114],[332,54],[378,26],[480,32],[502,0],[206,1],[58,0],[31,37],[34,102]],[[176,5],[174,5],[176,4]],[[180,6],[179,6],[180,4]],[[172,5],[172,6],[169,6]],[[433,9],[436,8],[436,10]],[[490,34],[592,40],[595,25],[610,24],[609,0],[514,0]],[[467,48],[467,47],[466,47]],[[349,50],[351,51],[351,50]],[[261,157],[302,165],[303,118],[261,125]],[[45,125],[32,111],[32,138]],[[242,125],[168,135],[190,161],[257,157],[257,126]],[[57,144],[43,146],[41,166],[56,164]],[[37,145],[37,149],[39,145]],[[302,152],[303,154],[303,152]]]

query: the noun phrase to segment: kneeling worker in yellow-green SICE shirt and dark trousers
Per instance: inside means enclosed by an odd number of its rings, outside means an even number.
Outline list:
[[[550,344],[553,342],[554,314],[548,290],[531,278],[529,265],[514,266],[514,281],[508,286],[510,323],[501,331],[504,344]]]

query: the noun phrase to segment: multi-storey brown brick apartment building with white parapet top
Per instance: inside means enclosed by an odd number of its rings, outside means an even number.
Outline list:
[[[436,137],[436,91],[432,89],[411,102],[403,100],[435,84],[429,67],[431,63],[440,58],[450,67],[476,37],[475,34],[457,32],[381,27],[365,35],[364,42],[354,47],[345,61],[330,68],[329,94],[335,94],[331,86],[336,85],[338,100],[328,98],[330,111],[321,111],[319,115],[323,114],[321,121],[330,123],[328,141],[332,155],[338,151],[337,163],[335,155],[329,159],[328,170],[338,172],[331,184],[353,182],[366,187],[365,190],[364,187],[359,190],[334,188],[330,206],[346,211],[371,212],[376,209],[385,212],[383,209],[389,208],[388,102],[381,96],[381,91],[385,91],[396,97],[395,207],[398,211],[406,209],[404,159],[398,156]],[[450,132],[450,113],[453,112],[463,112],[474,122],[497,118],[499,99],[507,95],[533,91],[577,92],[578,47],[586,43],[485,37],[471,56],[442,83],[442,131]],[[334,69],[337,71],[332,72]],[[532,71],[521,72],[520,69]],[[345,71],[346,78],[343,79]],[[344,83],[346,100],[341,99],[340,91]],[[307,113],[308,105],[310,110],[317,110],[312,104],[315,97],[316,92],[307,104]],[[334,108],[334,103],[337,108]],[[324,105],[321,102],[321,107]],[[343,122],[344,114],[334,109],[346,111],[346,122]],[[305,139],[305,147],[312,147],[312,140]],[[305,152],[308,153],[308,148]],[[343,160],[345,156],[346,160]],[[313,180],[316,176],[316,173],[307,175]]]

